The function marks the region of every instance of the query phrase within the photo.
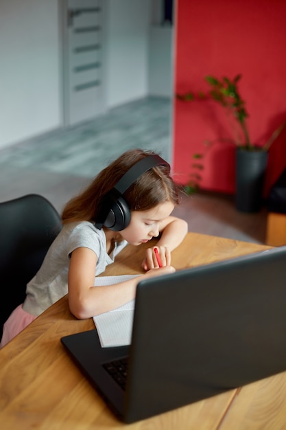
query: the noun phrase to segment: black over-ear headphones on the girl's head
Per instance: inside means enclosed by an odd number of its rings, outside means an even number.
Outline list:
[[[130,223],[131,214],[130,208],[123,199],[122,194],[126,192],[132,183],[141,177],[141,174],[160,165],[169,166],[169,163],[159,155],[148,155],[140,161],[137,161],[134,166],[123,174],[123,177],[121,177],[115,187],[108,191],[99,202],[95,227],[102,229],[104,226],[114,231],[125,229]]]

